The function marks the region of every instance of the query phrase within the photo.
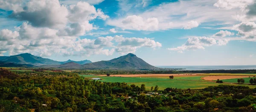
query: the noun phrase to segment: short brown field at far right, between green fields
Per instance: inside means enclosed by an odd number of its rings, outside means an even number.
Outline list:
[[[203,80],[223,80],[223,79],[233,79],[233,78],[248,78],[248,76],[207,76],[201,79]]]

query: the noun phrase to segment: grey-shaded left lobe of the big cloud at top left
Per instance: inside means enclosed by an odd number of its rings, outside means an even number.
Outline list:
[[[14,11],[11,15],[18,20],[29,21],[33,26],[59,28],[68,21],[68,10],[58,0],[30,0],[22,11]]]

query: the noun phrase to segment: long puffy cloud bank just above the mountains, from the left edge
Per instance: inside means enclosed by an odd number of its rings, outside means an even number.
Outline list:
[[[10,55],[30,52],[40,56],[68,55],[112,55],[113,52],[135,52],[140,47],[158,48],[159,42],[149,38],[127,38],[121,36],[81,39],[78,36],[61,34],[57,29],[34,27],[24,22],[15,31],[0,31],[0,54],[9,51]],[[114,45],[116,43],[116,46]],[[128,50],[132,49],[132,50]]]

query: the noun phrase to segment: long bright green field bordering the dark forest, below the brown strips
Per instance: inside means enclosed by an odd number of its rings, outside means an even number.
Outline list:
[[[164,79],[164,78],[125,78],[125,77],[106,77],[106,76],[95,76],[95,75],[80,75],[84,76],[85,78],[101,78],[100,81],[105,82],[125,82],[128,84],[136,84],[140,86],[141,84],[146,85],[146,89],[150,89],[151,86],[159,86],[160,90],[166,89],[167,87],[172,88],[179,88],[179,89],[203,89],[207,86],[218,86],[219,83],[212,83],[212,82],[203,82],[203,81],[192,81],[187,80],[189,78],[193,80],[199,80],[200,77],[183,77],[179,79]],[[237,84],[228,84],[228,85],[237,85]],[[256,86],[252,85],[244,85],[250,86],[251,88],[255,88]]]

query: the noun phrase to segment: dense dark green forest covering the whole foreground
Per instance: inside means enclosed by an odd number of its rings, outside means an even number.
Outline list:
[[[0,69],[0,112],[256,112],[256,89],[247,86],[151,91],[145,84],[87,80],[72,72]]]

